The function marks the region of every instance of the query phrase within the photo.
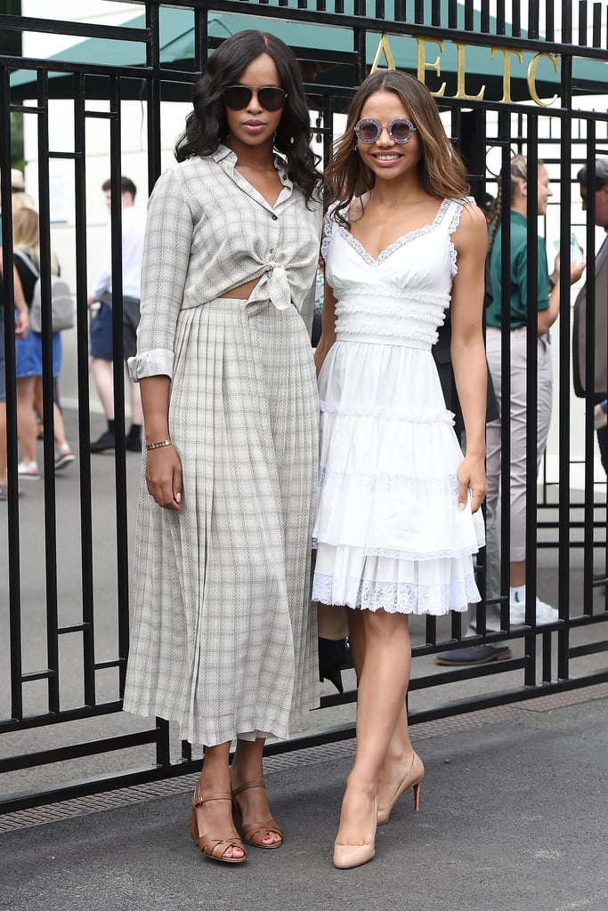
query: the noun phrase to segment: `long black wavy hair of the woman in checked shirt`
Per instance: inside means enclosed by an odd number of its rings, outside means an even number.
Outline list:
[[[178,161],[194,155],[212,155],[228,137],[228,119],[222,93],[238,82],[242,71],[261,54],[273,58],[287,93],[283,115],[274,137],[274,148],[287,159],[290,178],[304,192],[306,202],[320,187],[316,170],[310,115],[304,96],[300,68],[290,48],[276,36],[248,29],[237,32],[211,54],[204,76],[194,86],[193,110],[186,118],[186,129],[175,147]]]

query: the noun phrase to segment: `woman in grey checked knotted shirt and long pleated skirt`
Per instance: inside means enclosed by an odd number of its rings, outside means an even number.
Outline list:
[[[146,461],[124,704],[204,744],[191,835],[204,855],[241,863],[242,840],[283,839],[264,741],[318,704],[310,328],[322,206],[292,51],[262,32],[228,38],[176,157],[149,203],[129,362]]]

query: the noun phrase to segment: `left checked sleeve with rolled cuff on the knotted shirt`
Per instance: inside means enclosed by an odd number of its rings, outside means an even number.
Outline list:
[[[180,174],[165,171],[152,191],[141,265],[138,353],[129,359],[135,382],[172,378],[178,316],[191,259],[193,220]]]

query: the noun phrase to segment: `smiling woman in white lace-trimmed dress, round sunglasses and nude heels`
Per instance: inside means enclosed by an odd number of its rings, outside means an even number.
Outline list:
[[[347,609],[356,760],[334,864],[366,863],[376,824],[424,767],[407,733],[407,615],[479,600],[486,221],[426,87],[378,72],[356,92],[327,172],[321,465],[313,598]],[[431,346],[451,307],[463,456]]]

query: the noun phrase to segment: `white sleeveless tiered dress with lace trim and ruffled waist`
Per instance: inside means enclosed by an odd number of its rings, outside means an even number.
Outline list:
[[[480,511],[458,508],[462,451],[431,353],[457,274],[464,200],[375,260],[325,224],[336,341],[319,374],[321,457],[313,599],[445,614],[479,601]]]

